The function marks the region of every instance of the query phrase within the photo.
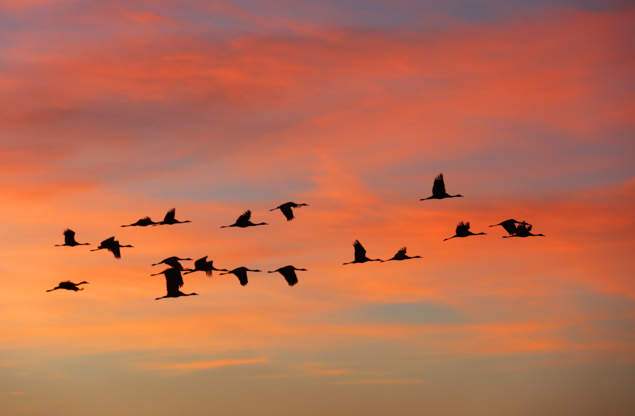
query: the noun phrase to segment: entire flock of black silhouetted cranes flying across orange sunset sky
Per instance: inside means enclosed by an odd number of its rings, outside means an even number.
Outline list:
[[[434,178],[434,184],[432,185],[432,196],[428,198],[420,199],[420,201],[425,201],[426,199],[445,199],[445,198],[457,198],[457,197],[462,197],[462,195],[450,195],[448,194],[448,192],[445,191],[445,183],[443,182],[443,173],[440,173],[436,178]],[[292,208],[300,208],[301,206],[307,206],[307,204],[296,204],[293,202],[288,202],[288,203],[279,205],[276,208],[273,208],[272,210],[269,210],[269,211],[280,210],[283,213],[284,217],[286,217],[286,220],[291,221],[293,220],[293,218],[295,218],[295,216],[293,215]],[[145,217],[145,218],[141,218],[134,224],[121,225],[121,227],[147,227],[148,225],[152,225],[154,227],[156,225],[173,225],[173,224],[184,224],[186,222],[191,222],[189,220],[178,221],[175,218],[175,214],[176,214],[176,210],[175,208],[172,208],[170,211],[168,211],[168,213],[166,213],[165,217],[163,218],[163,221],[161,222],[154,222],[152,221],[150,217]],[[220,228],[226,228],[226,227],[246,228],[246,227],[255,227],[257,225],[268,225],[268,224],[266,222],[260,222],[259,224],[254,224],[253,222],[251,222],[251,211],[248,210],[248,211],[244,211],[244,213],[238,217],[238,219],[236,220],[236,222],[234,222],[234,224],[223,225]],[[544,237],[542,234],[531,234],[531,224],[528,224],[525,221],[517,221],[513,219],[505,220],[503,222],[500,222],[499,224],[490,225],[490,227],[496,227],[497,225],[502,225],[505,231],[509,232],[509,236],[504,236],[503,238],[510,238],[510,237],[525,238],[525,237],[535,237],[535,236]],[[455,235],[451,236],[450,238],[446,238],[443,241],[456,238],[456,237],[479,236],[479,235],[485,234],[485,232],[479,232],[478,234],[474,234],[474,232],[469,231],[469,229],[470,229],[470,223],[461,221],[457,225]],[[84,246],[84,245],[90,245],[90,243],[77,243],[77,241],[75,240],[75,232],[70,229],[66,229],[64,231],[64,244],[55,245],[55,246],[74,247],[74,246]],[[117,241],[114,237],[110,237],[102,241],[100,245],[97,248],[95,248],[95,250],[90,250],[90,251],[95,252],[97,250],[105,249],[111,252],[115,258],[121,258],[120,249],[122,247],[132,247],[132,246],[131,245],[122,246],[119,244],[119,241]],[[408,260],[410,258],[422,258],[421,256],[410,257],[406,255],[406,247],[402,247],[392,258],[389,258],[388,260],[381,260],[379,258],[373,259],[373,258],[366,257],[366,249],[364,249],[361,243],[359,243],[359,240],[355,240],[355,242],[353,243],[353,247],[355,250],[355,259],[352,262],[344,263],[344,264],[365,263],[365,262],[387,262],[390,260]],[[159,297],[156,299],[159,300],[164,298],[198,295],[198,293],[181,292],[180,289],[183,287],[183,274],[190,274],[193,272],[200,271],[200,272],[205,272],[207,276],[211,277],[213,271],[222,271],[225,273],[220,273],[220,274],[234,274],[234,276],[236,276],[238,280],[240,281],[240,284],[242,286],[245,286],[248,283],[247,272],[260,272],[260,270],[251,270],[251,269],[248,269],[247,267],[237,267],[236,269],[233,269],[233,270],[217,269],[216,267],[214,267],[213,261],[212,260],[208,261],[207,257],[208,256],[201,257],[198,260],[196,260],[194,262],[194,269],[186,269],[183,267],[182,264],[180,264],[180,262],[185,260],[191,261],[192,260],[191,258],[179,258],[179,257],[173,256],[173,257],[164,258],[160,262],[152,264],[153,266],[159,265],[159,264],[165,264],[170,266],[169,269],[165,269],[162,272],[150,275],[150,276],[157,276],[159,274],[163,274],[165,276],[166,288],[168,293],[165,296]],[[284,267],[280,267],[279,269],[276,269],[274,271],[270,271],[269,273],[279,272],[287,281],[289,286],[294,286],[298,283],[298,276],[295,273],[296,271],[307,271],[307,269],[297,269],[296,267],[293,267],[292,265],[287,265]],[[74,290],[75,292],[77,292],[78,290],[84,290],[84,288],[77,287],[79,285],[84,285],[84,284],[88,284],[88,282],[83,281],[81,283],[72,283],[71,281],[67,280],[67,281],[60,282],[60,284],[57,287],[47,290],[46,292],[51,292],[57,289]]]

